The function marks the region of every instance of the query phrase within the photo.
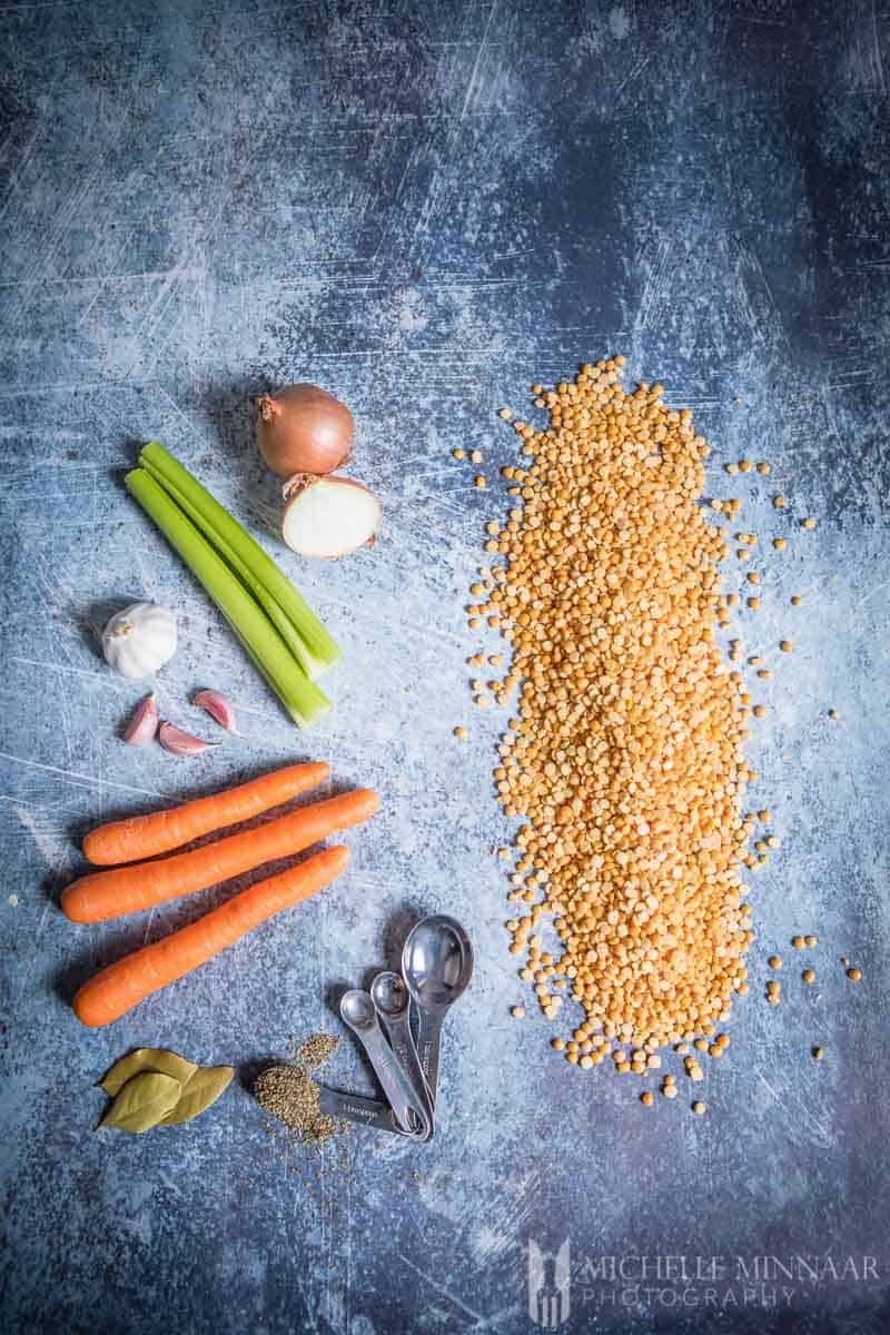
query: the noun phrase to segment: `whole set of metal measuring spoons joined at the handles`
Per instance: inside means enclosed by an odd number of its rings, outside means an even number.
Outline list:
[[[340,1016],[364,1048],[386,1103],[320,1085],[319,1109],[411,1140],[435,1131],[442,1024],[472,977],[472,947],[444,913],[420,918],[402,951],[402,973],[378,973],[371,991],[352,988]]]

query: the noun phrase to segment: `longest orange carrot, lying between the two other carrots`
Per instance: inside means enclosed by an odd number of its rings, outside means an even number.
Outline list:
[[[131,862],[111,872],[92,872],[63,890],[61,908],[72,922],[104,922],[105,918],[148,909],[180,894],[228,881],[276,857],[300,853],[335,830],[367,821],[379,805],[380,798],[374,789],[356,788],[189,853],[175,853],[155,862]]]

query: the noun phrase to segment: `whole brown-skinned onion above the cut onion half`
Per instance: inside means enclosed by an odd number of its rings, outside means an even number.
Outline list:
[[[334,473],[352,457],[355,423],[346,403],[318,384],[288,384],[255,399],[256,443],[279,478]]]

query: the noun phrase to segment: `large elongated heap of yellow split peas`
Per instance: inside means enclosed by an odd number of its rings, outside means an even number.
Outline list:
[[[495,770],[504,812],[526,817],[511,951],[527,952],[522,977],[548,1017],[566,995],[582,1003],[574,1040],[555,1040],[570,1061],[612,1052],[644,1071],[656,1047],[714,1035],[746,991],[741,800],[755,776],[742,678],[715,645],[729,547],[698,503],[709,447],[660,386],[622,388],[623,360],[535,387],[550,425],[515,423],[528,463],[503,470],[512,509],[487,525],[500,559],[470,621],[512,645],[503,681],[474,682],[479,702],[522,684]],[[558,953],[535,934],[544,914]]]

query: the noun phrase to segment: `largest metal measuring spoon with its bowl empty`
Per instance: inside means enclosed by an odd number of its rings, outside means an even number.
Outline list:
[[[402,976],[418,1007],[418,1056],[435,1108],[442,1021],[472,977],[472,947],[456,918],[432,913],[414,924],[402,951]]]

